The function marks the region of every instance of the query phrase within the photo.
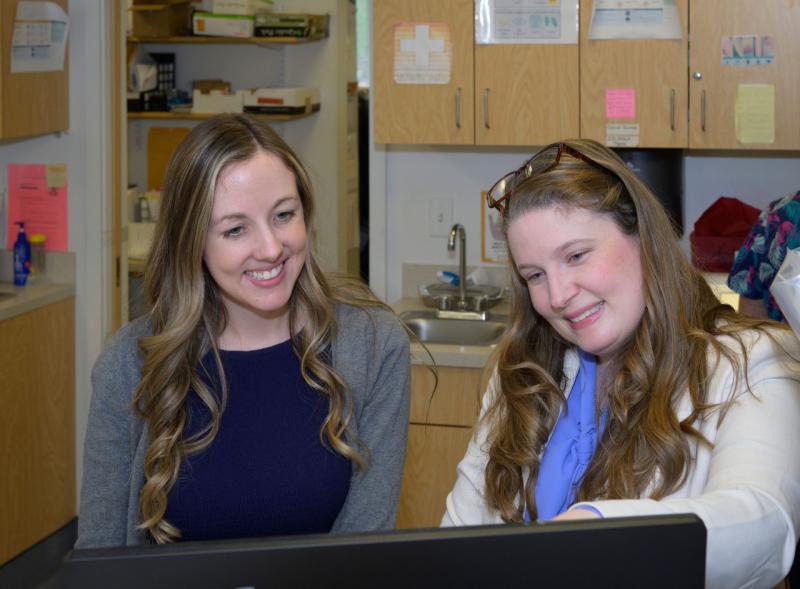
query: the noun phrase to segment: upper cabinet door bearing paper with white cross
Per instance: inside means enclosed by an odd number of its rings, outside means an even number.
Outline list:
[[[373,2],[377,143],[474,143],[473,14],[473,0]]]

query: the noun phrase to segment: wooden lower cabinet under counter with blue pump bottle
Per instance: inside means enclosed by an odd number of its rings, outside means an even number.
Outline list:
[[[74,309],[0,322],[0,566],[75,517]]]

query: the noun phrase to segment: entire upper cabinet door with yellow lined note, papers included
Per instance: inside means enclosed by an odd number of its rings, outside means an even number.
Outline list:
[[[800,4],[692,0],[690,18],[689,147],[800,149]]]

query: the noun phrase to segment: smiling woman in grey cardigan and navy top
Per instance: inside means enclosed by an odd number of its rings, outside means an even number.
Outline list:
[[[146,317],[92,373],[77,548],[388,529],[406,333],[311,248],[303,165],[219,115],[169,164]]]

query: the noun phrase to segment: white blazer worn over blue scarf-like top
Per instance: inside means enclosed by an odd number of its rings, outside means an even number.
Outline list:
[[[706,587],[772,587],[789,571],[800,529],[800,342],[790,332],[773,332],[787,355],[758,332],[745,332],[748,382],[733,387],[733,367],[720,359],[713,373],[709,401],[735,399],[724,418],[706,416],[695,427],[713,447],[689,440],[695,459],[685,483],[655,501],[602,500],[585,503],[605,517],[695,513],[708,530]],[[734,351],[731,338],[720,339]],[[714,366],[713,353],[709,353]],[[569,392],[577,372],[574,351],[564,361]],[[496,395],[495,380],[484,395],[481,418]],[[678,419],[691,413],[688,393],[677,407]],[[483,419],[459,463],[447,497],[442,526],[502,523],[484,501],[487,463]]]

